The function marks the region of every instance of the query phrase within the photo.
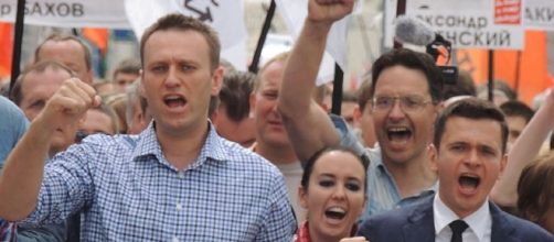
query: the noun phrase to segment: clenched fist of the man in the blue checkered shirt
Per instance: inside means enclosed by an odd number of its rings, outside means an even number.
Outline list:
[[[63,129],[79,122],[86,111],[99,106],[100,101],[93,87],[77,78],[70,78],[49,99],[36,122],[52,131]]]

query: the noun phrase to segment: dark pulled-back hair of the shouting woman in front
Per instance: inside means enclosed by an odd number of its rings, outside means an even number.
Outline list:
[[[313,172],[313,166],[316,166],[316,162],[319,161],[321,156],[329,152],[333,151],[339,151],[339,152],[344,152],[353,155],[356,157],[356,160],[362,164],[363,166],[363,173],[364,173],[364,180],[363,180],[363,187],[364,187],[364,194],[367,194],[367,166],[370,165],[370,160],[365,155],[358,155],[354,151],[343,147],[343,146],[331,146],[331,147],[323,147],[319,151],[317,151],[306,163],[303,163],[303,173],[302,173],[302,179],[300,180],[300,185],[305,188],[308,189],[308,185],[310,182],[311,173]],[[341,161],[337,161],[341,162]]]

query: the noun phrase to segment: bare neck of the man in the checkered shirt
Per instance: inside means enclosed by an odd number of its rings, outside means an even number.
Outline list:
[[[156,128],[163,155],[178,170],[187,168],[194,162],[207,136],[207,121],[182,132]]]

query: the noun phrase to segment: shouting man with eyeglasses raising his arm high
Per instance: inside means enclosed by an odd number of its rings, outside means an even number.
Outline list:
[[[332,23],[350,14],[352,8],[352,0],[309,1],[308,16],[285,70],[278,108],[301,161],[337,144],[371,160],[363,215],[367,218],[435,194],[436,174],[428,166],[427,145],[440,109],[443,82],[427,54],[395,50],[382,55],[373,65],[370,99],[379,147],[362,148],[343,120],[328,119],[306,95],[316,88]]]

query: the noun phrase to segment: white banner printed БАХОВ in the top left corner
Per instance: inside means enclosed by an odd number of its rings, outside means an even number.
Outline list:
[[[15,22],[18,0],[0,0],[0,21]],[[62,28],[129,29],[122,0],[26,0],[25,23]]]

